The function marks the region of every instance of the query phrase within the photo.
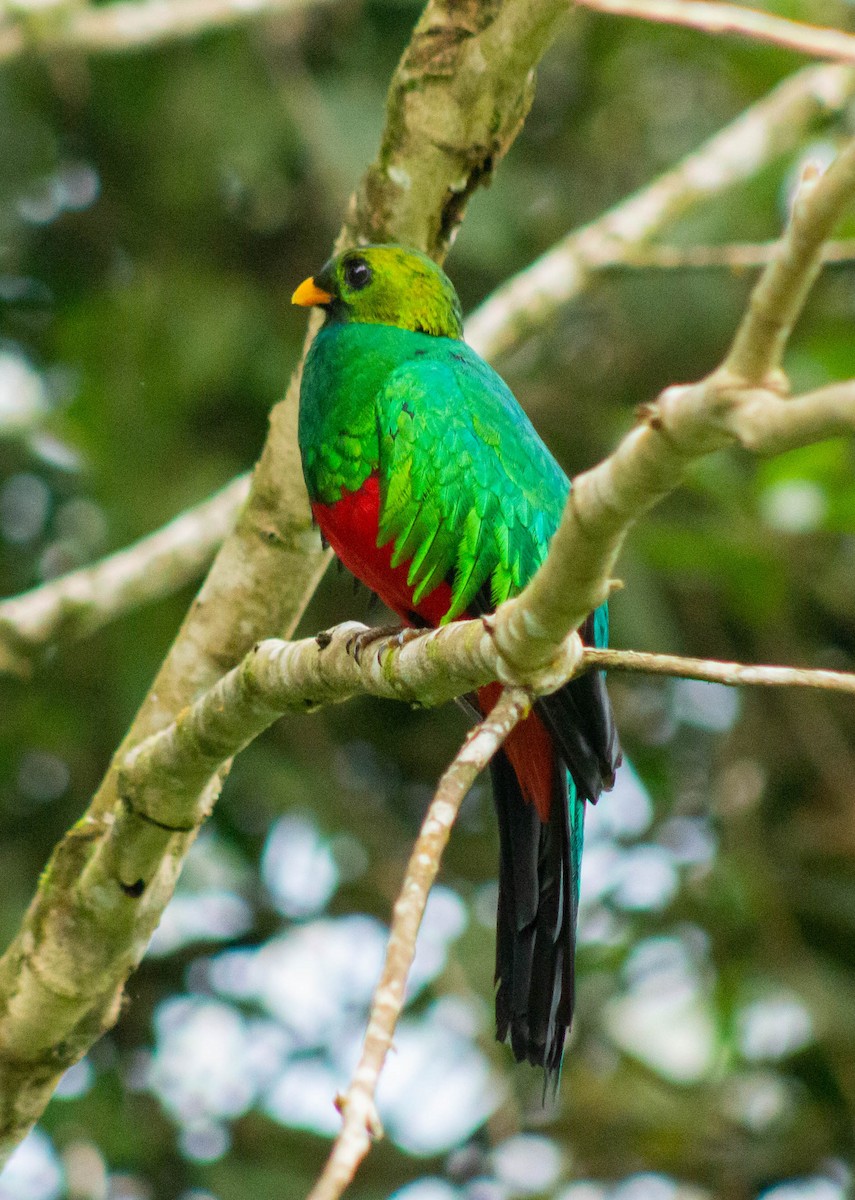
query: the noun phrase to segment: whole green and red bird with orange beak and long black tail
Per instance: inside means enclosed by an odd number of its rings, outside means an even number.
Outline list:
[[[546,554],[569,481],[496,372],[462,341],[426,256],[363,246],[294,292],[327,319],[303,371],[311,508],[345,565],[407,625],[491,612]],[[608,612],[581,630],[608,641]],[[486,713],[498,684],[483,688]],[[538,700],[492,761],[500,828],[496,1036],[556,1079],[573,1015],[585,804],[620,763],[602,673]]]

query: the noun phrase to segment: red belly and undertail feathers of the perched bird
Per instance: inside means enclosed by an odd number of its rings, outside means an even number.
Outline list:
[[[440,624],[452,605],[448,583],[438,583],[414,605],[414,589],[407,583],[408,564],[391,565],[394,541],[385,546],[377,545],[379,485],[376,475],[370,475],[358,492],[347,492],[335,504],[312,504],[312,515],[345,566],[376,592],[406,625],[415,624],[414,616],[429,625]],[[490,712],[501,691],[501,684],[497,683],[479,690],[478,701],[483,713]],[[510,760],[524,797],[534,805],[542,821],[549,820],[557,763],[552,739],[539,716],[532,714],[516,726],[504,743],[504,752]]]

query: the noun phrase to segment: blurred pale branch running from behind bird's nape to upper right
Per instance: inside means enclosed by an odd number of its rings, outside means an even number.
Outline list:
[[[630,258],[702,200],[793,151],[819,116],[842,112],[853,94],[849,67],[806,67],[785,79],[664,175],[496,288],[466,322],[467,342],[485,359],[513,349],[575,299],[594,271]]]

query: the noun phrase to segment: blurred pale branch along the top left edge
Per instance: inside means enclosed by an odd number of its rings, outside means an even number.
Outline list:
[[[122,53],[197,37],[279,13],[316,8],[327,0],[120,0],[77,7],[67,0],[0,26],[0,62],[28,47],[41,52]],[[10,8],[13,6],[10,5]]]

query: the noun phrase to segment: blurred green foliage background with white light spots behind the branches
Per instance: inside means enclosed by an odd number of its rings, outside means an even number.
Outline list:
[[[833,0],[789,16],[851,26]],[[147,52],[0,65],[0,590],[119,548],[250,466],[295,362],[294,286],[372,157],[409,0],[337,0]],[[784,11],[783,8],[781,11]],[[591,14],[449,258],[472,308],[763,96],[791,54]],[[818,127],[669,241],[777,234]],[[842,230],[847,233],[847,229]],[[851,229],[849,230],[851,232]],[[498,364],[572,474],[711,368],[752,274],[612,270]],[[829,268],[796,388],[855,374]],[[853,668],[853,451],[719,455],[633,535],[621,647]],[[191,590],[0,680],[0,938],[97,785]],[[364,619],[330,571],[303,622]],[[467,799],[381,1100],[373,1200],[843,1200],[855,1141],[850,700],[612,680],[627,766],[590,814],[561,1097],[492,1040],[497,840]],[[2,1200],[292,1200],[336,1128],[385,922],[454,708],[359,701],[235,763],[115,1030],[68,1072]]]

